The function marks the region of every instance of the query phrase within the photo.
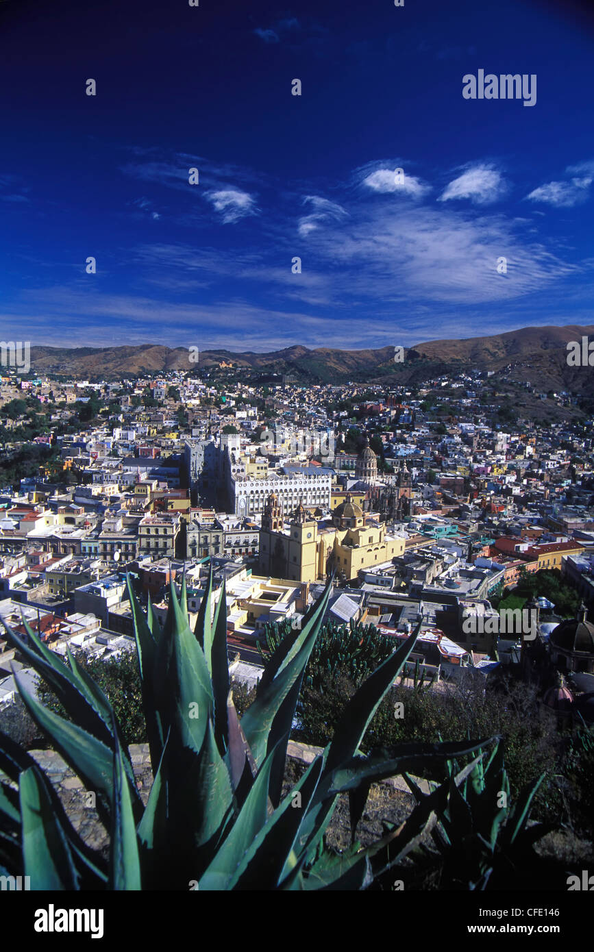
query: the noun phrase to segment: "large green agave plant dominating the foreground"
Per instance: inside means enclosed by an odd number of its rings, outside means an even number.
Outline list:
[[[63,662],[27,626],[7,637],[51,686],[72,721],[30,694],[30,716],[96,795],[109,830],[109,860],[83,842],[30,755],[0,734],[0,873],[30,876],[33,889],[363,888],[400,862],[447,799],[446,784],[397,831],[372,846],[354,842],[370,783],[477,750],[481,744],[404,744],[363,757],[359,744],[406,662],[418,630],[362,684],[331,744],[282,797],[287,743],[329,585],[274,652],[253,704],[239,720],[229,691],[225,584],[213,605],[212,569],[195,630],[185,580],[170,586],[163,630],[129,580],[153,783],[145,806],[111,704],[68,651]],[[460,778],[458,778],[460,782]],[[341,793],[350,801],[353,843],[331,852],[325,833]]]

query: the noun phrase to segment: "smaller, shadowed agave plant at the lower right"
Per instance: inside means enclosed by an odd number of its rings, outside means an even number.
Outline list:
[[[552,823],[529,823],[532,801],[545,774],[526,786],[512,805],[502,744],[495,745],[486,765],[477,759],[462,784],[456,783],[455,761],[446,769],[449,797],[440,823],[431,831],[437,853],[421,844],[415,858],[426,866],[441,865],[441,885],[446,889],[483,890],[495,883],[496,888],[510,888],[526,872],[532,876],[542,863],[534,843],[555,828]],[[421,803],[417,784],[406,780]]]

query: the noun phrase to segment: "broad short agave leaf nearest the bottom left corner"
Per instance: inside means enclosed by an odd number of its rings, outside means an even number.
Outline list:
[[[33,889],[77,889],[79,878],[69,843],[35,767],[19,778],[25,875]]]

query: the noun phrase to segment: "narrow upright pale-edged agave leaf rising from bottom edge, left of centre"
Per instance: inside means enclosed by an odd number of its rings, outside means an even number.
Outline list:
[[[111,805],[111,840],[109,843],[111,887],[116,890],[137,890],[140,883],[140,859],[129,783],[113,717],[113,803]]]

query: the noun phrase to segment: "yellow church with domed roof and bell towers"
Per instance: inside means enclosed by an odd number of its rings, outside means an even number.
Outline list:
[[[288,522],[278,496],[270,493],[262,517],[260,565],[268,575],[298,582],[325,579],[336,570],[347,579],[403,554],[405,540],[389,535],[386,525],[366,517],[361,506],[347,499],[331,519],[308,515],[303,504]]]

